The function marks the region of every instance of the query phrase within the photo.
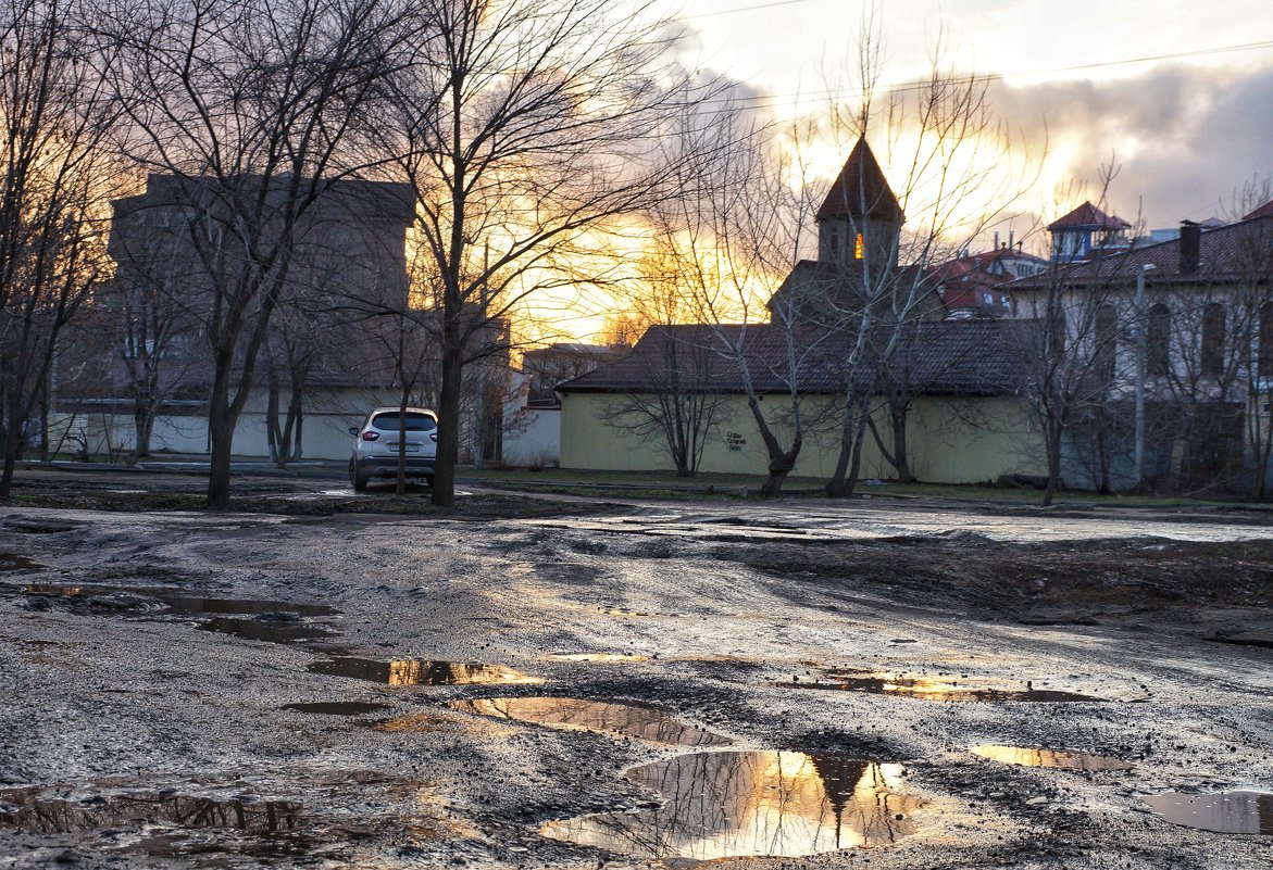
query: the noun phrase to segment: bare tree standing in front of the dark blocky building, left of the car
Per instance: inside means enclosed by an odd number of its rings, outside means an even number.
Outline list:
[[[365,169],[355,135],[397,62],[406,19],[378,0],[145,0],[103,39],[130,154],[183,215],[211,359],[207,504],[229,501],[234,426],[307,219]],[[423,25],[423,23],[420,24]]]

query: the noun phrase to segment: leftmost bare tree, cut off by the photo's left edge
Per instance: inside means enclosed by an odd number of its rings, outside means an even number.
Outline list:
[[[59,337],[101,279],[118,168],[103,148],[107,99],[74,0],[18,0],[0,11],[0,497],[24,429],[50,402]]]

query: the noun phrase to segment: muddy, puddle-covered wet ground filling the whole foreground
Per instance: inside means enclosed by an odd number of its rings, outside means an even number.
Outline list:
[[[0,508],[4,867],[1273,864],[1259,513],[76,480]]]

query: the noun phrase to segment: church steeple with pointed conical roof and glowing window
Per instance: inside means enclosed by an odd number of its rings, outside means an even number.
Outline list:
[[[863,136],[817,210],[817,258],[838,266],[866,266],[872,272],[894,270],[905,221],[901,204]]]

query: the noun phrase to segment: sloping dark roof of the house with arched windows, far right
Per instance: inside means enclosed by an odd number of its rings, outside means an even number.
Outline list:
[[[1273,273],[1273,215],[1203,229],[1199,238],[1199,267],[1181,271],[1180,240],[1171,239],[1144,247],[1133,247],[1104,257],[1062,266],[1051,272],[1012,281],[1012,293],[1041,290],[1053,282],[1068,286],[1111,286],[1136,281],[1137,272],[1147,265],[1150,285],[1155,284],[1221,284],[1249,280],[1259,275],[1268,281]]]

